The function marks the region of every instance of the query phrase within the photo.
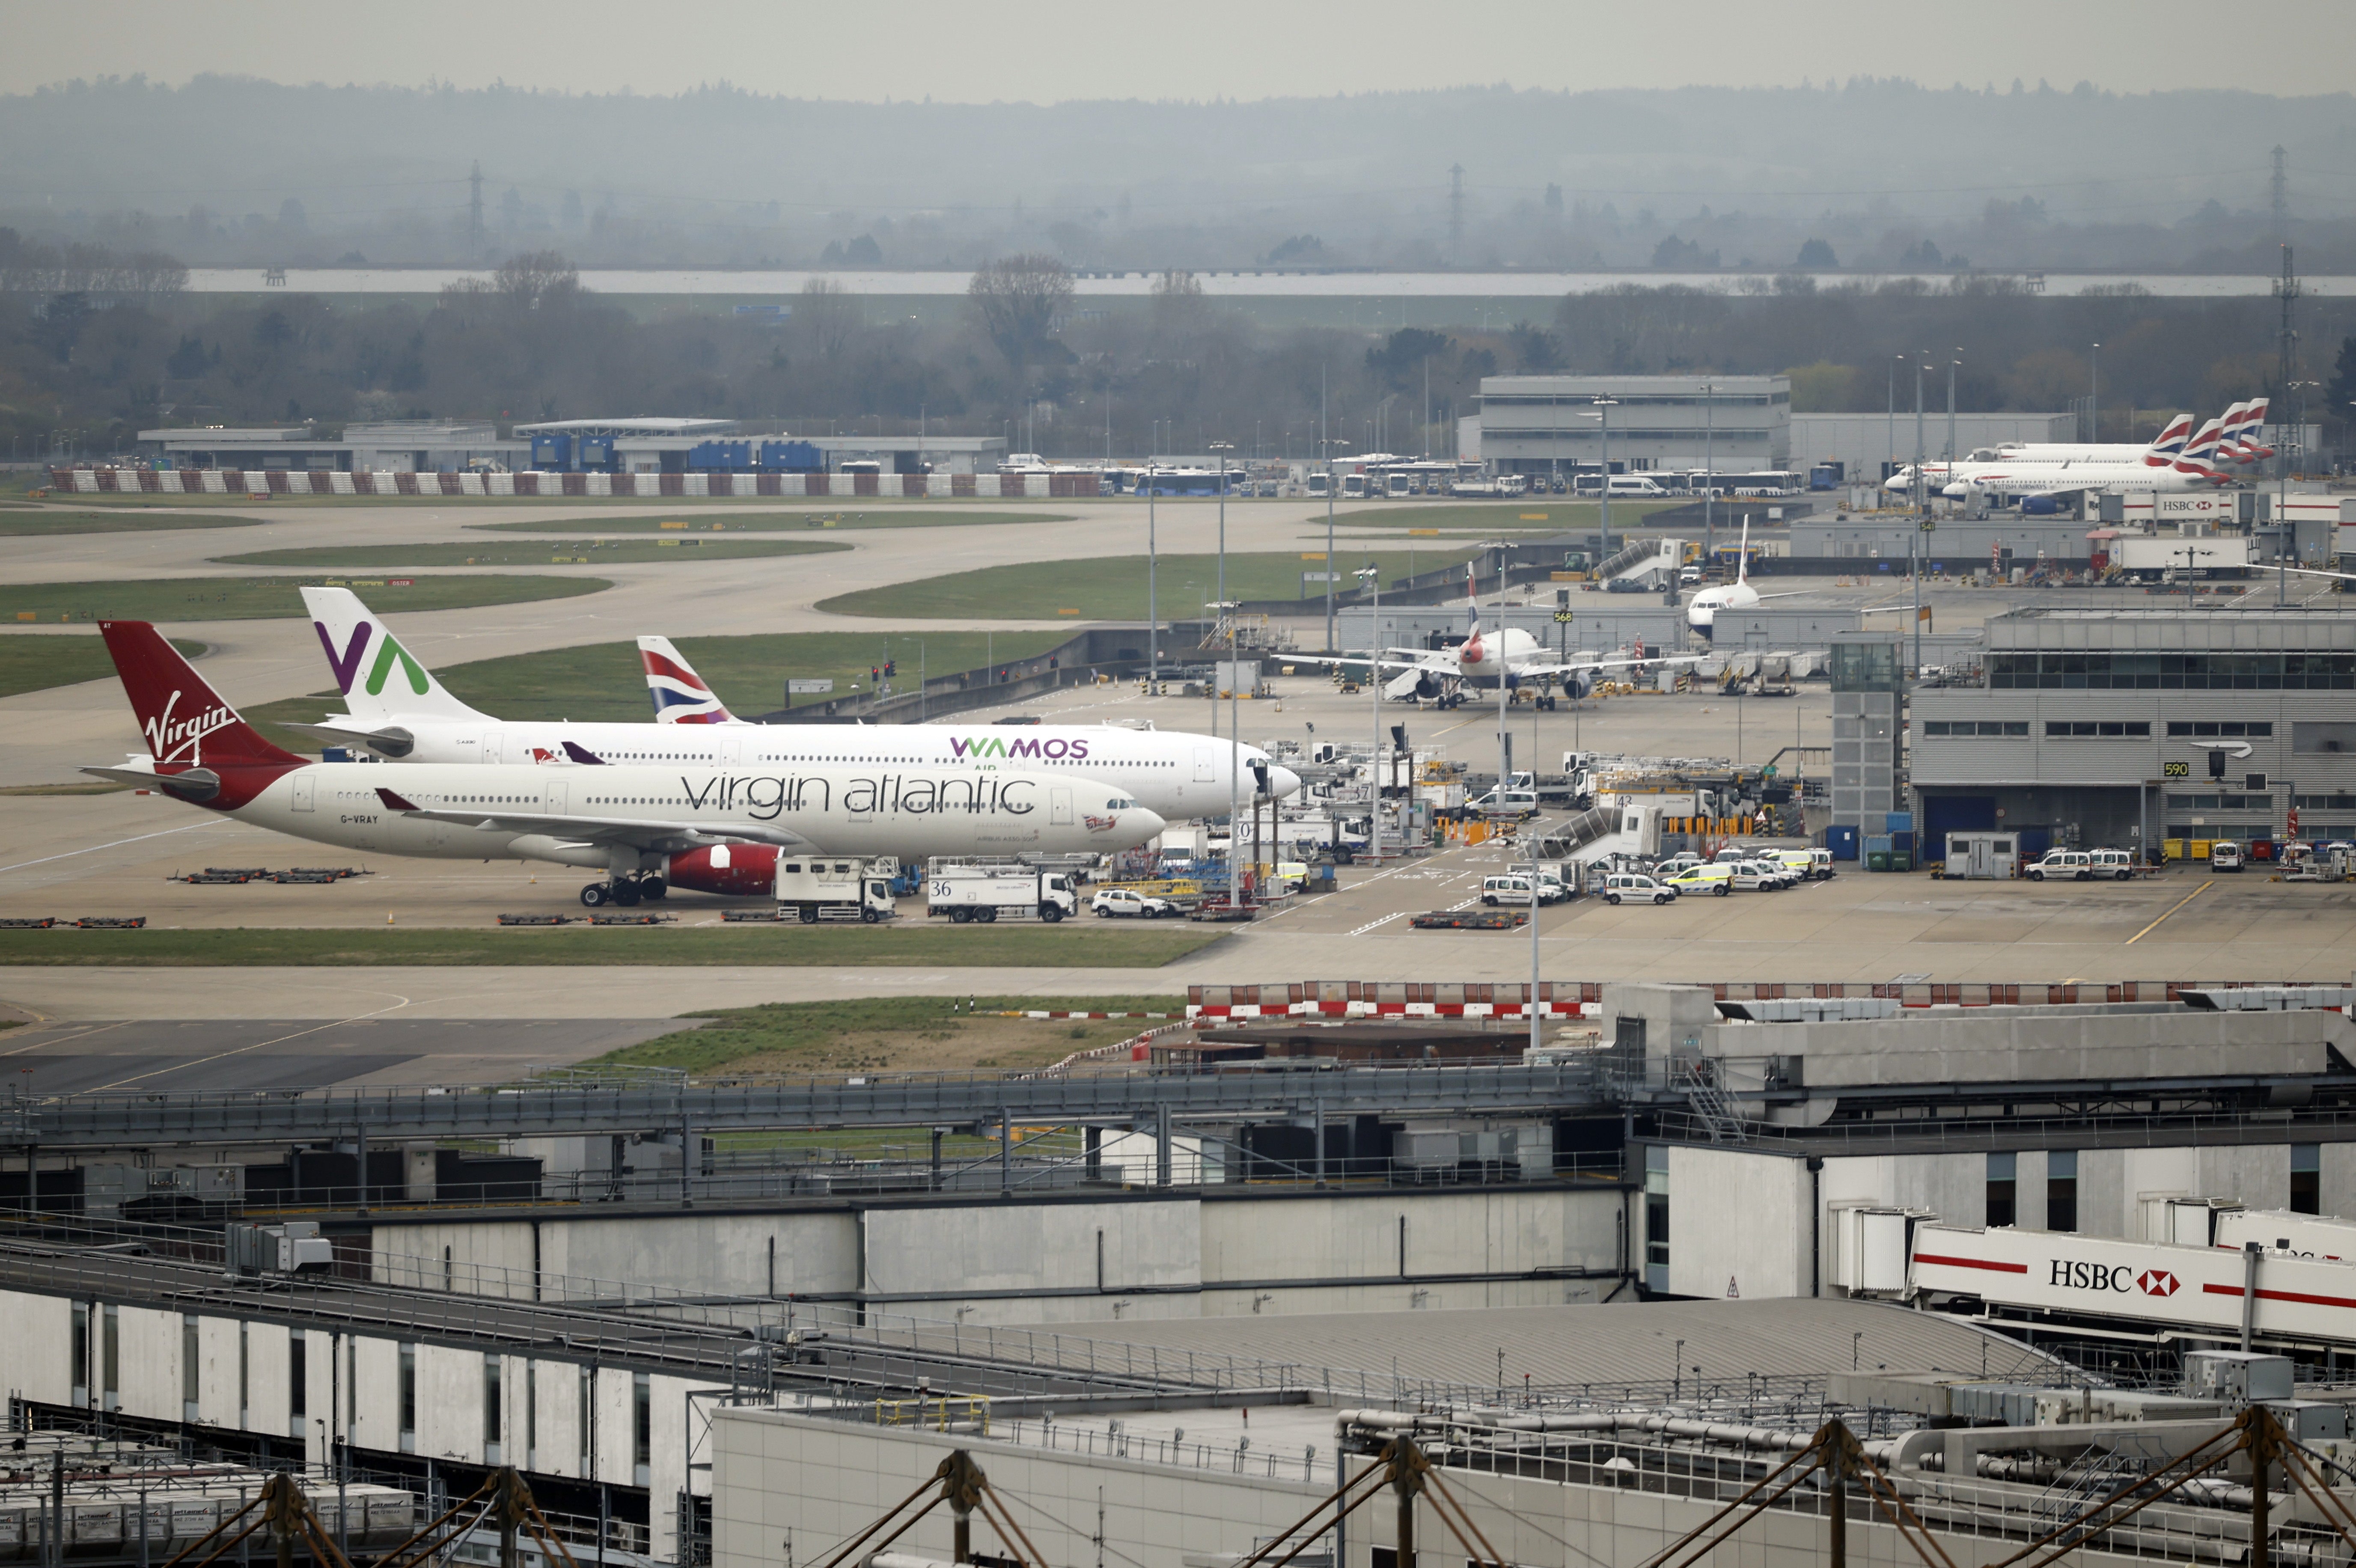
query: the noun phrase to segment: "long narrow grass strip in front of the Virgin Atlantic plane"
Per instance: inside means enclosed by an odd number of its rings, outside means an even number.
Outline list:
[[[613,968],[662,965],[829,965],[907,968],[1088,965],[1152,970],[1227,935],[1218,925],[556,925],[481,930],[0,930],[0,965],[250,968],[250,965],[464,965],[523,963]]]

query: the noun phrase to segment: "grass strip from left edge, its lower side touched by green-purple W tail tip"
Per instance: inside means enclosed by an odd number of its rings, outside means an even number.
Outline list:
[[[0,584],[0,622],[273,622],[299,617],[294,591],[318,577],[146,577],[130,582],[26,582]],[[370,589],[370,607],[474,610],[521,605],[535,598],[598,593],[603,577],[419,577],[405,589],[356,582]]]

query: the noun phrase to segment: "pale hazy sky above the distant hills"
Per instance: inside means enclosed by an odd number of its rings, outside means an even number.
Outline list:
[[[238,73],[975,104],[1847,75],[2314,94],[2349,87],[2347,19],[2347,0],[0,0],[0,92]]]

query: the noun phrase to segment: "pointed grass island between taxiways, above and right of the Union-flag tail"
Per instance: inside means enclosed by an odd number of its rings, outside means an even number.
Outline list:
[[[1430,572],[1468,560],[1461,544],[1430,549],[1341,551],[1336,570],[1343,589],[1357,584],[1348,572],[1369,560],[1383,567],[1383,582]],[[1308,605],[1324,600],[1324,584],[1303,584],[1303,572],[1322,572],[1322,556],[1286,551],[1282,556],[1227,556],[1227,598],[1296,598]],[[1308,589],[1308,593],[1303,593]],[[1202,614],[1218,598],[1218,556],[1164,556],[1159,567],[1162,617]],[[1105,622],[1145,614],[1145,556],[1100,556],[1093,560],[1041,560],[1037,565],[999,565],[952,577],[921,577],[888,589],[862,589],[820,600],[832,614],[879,614],[893,619],[1072,619]]]

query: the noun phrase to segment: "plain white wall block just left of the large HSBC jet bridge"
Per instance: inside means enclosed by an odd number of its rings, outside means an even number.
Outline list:
[[[1805,1158],[1670,1147],[1670,1295],[1809,1295],[1812,1187]]]

